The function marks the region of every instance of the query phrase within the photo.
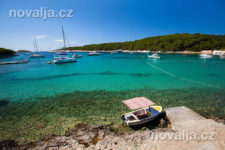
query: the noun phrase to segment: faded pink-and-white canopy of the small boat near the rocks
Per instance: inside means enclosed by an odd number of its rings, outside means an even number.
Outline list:
[[[131,110],[154,105],[155,103],[145,97],[136,97],[123,101]]]

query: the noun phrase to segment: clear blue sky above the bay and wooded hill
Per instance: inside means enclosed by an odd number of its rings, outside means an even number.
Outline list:
[[[72,9],[73,18],[10,18],[10,9]],[[224,0],[1,0],[0,47],[41,50],[174,33],[225,34]]]

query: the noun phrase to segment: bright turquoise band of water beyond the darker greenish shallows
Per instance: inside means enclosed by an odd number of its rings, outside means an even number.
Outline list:
[[[225,89],[225,59],[201,59],[198,55],[163,55],[159,60],[145,54],[109,54],[83,58],[77,63],[47,64],[45,58],[30,58],[28,64],[0,66],[0,99],[23,101],[75,90],[121,91],[142,88]],[[29,56],[20,54],[9,61]]]

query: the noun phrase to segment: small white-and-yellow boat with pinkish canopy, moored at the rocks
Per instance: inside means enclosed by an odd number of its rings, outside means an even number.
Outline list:
[[[162,112],[162,106],[154,105],[152,101],[145,97],[136,97],[123,101],[133,111],[123,114],[121,119],[128,125],[140,125],[155,119]],[[154,106],[153,106],[154,105]]]

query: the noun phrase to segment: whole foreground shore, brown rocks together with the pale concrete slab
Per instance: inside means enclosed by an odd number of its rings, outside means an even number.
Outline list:
[[[158,126],[148,130],[142,127],[138,131],[119,133],[109,126],[78,124],[63,136],[47,136],[43,140],[26,145],[17,145],[15,141],[0,143],[1,150],[94,150],[94,149],[218,149],[225,147],[225,125],[206,119],[187,107],[165,109],[166,116],[160,118]],[[161,116],[163,117],[163,116]],[[168,118],[167,118],[168,117]],[[169,119],[169,120],[167,120]],[[213,140],[194,139],[183,141],[176,139],[152,139],[152,135],[177,134],[183,131],[200,135],[214,132]]]

